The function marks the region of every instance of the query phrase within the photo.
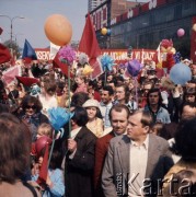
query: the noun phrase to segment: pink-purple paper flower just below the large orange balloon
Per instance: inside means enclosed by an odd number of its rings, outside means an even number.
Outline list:
[[[67,63],[68,66],[71,66],[73,60],[76,59],[76,51],[70,46],[64,46],[59,50],[59,60],[61,62]]]

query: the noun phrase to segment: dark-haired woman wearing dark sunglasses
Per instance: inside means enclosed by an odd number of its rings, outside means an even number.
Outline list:
[[[19,117],[30,127],[32,142],[36,140],[37,127],[43,123],[49,123],[47,116],[42,113],[42,103],[35,96],[26,95],[22,100]]]

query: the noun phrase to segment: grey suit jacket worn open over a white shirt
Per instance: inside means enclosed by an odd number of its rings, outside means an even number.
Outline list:
[[[130,143],[131,140],[127,136],[113,138],[109,142],[102,173],[102,187],[105,197],[126,196],[128,194]],[[154,184],[159,178],[164,177],[172,165],[173,160],[168,141],[150,134],[146,178],[150,178],[150,186],[153,190],[157,189]],[[150,194],[150,196],[153,195]]]

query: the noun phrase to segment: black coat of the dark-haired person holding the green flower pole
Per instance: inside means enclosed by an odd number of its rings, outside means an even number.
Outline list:
[[[94,148],[96,137],[87,127],[76,136],[77,151],[73,159],[66,155],[66,197],[93,197]]]

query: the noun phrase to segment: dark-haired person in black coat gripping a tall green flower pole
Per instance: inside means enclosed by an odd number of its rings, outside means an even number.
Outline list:
[[[78,106],[73,113],[65,165],[66,197],[93,197],[96,137],[85,127],[87,111]]]

